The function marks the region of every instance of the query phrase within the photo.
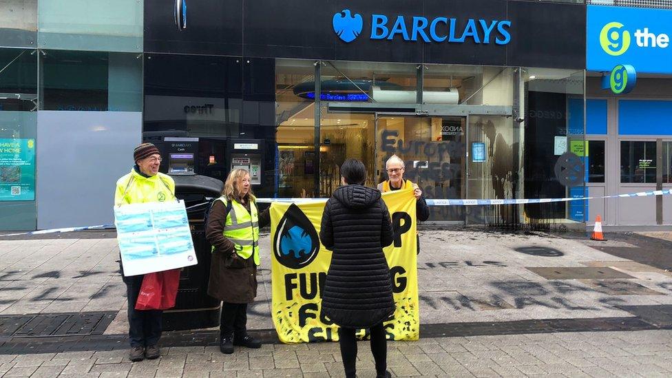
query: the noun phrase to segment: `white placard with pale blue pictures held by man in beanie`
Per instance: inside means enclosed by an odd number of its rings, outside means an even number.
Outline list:
[[[114,207],[124,275],[140,275],[196,265],[184,201]]]

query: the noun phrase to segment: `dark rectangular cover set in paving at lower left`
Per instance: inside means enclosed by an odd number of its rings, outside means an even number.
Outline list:
[[[103,335],[116,312],[0,316],[0,337]]]

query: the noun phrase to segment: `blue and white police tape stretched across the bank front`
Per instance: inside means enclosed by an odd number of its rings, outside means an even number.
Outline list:
[[[572,201],[582,201],[582,200],[598,200],[603,198],[630,198],[630,197],[649,197],[649,196],[669,196],[672,195],[672,189],[666,190],[654,190],[654,191],[639,191],[637,193],[627,193],[627,194],[617,194],[615,196],[598,196],[598,197],[575,197],[575,198],[534,198],[534,199],[518,199],[518,200],[452,200],[452,199],[428,199],[428,206],[491,206],[498,204],[537,204],[537,203],[552,203],[552,202],[572,202]],[[271,202],[326,202],[328,198],[257,198],[256,202],[258,203],[271,203]],[[193,209],[195,207],[203,206],[204,204],[209,204],[210,202],[203,202],[200,204],[194,204],[187,209]],[[88,227],[68,227],[65,229],[50,229],[50,230],[40,230],[40,231],[30,231],[30,232],[21,232],[21,233],[4,233],[0,234],[0,238],[3,236],[20,236],[20,235],[43,235],[45,233],[66,233],[74,231],[89,231],[89,230],[101,230],[101,229],[114,229],[114,224],[101,224],[98,226],[88,226]]]

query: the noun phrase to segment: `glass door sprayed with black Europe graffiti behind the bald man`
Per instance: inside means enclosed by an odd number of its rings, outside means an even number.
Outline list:
[[[403,178],[421,187],[427,198],[464,198],[465,131],[463,116],[375,118],[375,184],[388,179],[385,162],[405,162]],[[464,222],[463,207],[430,207],[430,222]]]

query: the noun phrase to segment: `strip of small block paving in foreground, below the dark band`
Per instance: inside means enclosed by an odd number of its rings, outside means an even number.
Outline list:
[[[375,377],[359,342],[358,377]],[[0,377],[344,377],[337,343],[163,348],[134,364],[126,350],[0,355]],[[670,377],[672,330],[423,338],[388,343],[395,377]]]

